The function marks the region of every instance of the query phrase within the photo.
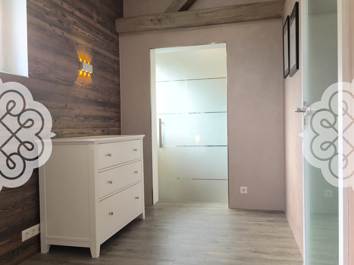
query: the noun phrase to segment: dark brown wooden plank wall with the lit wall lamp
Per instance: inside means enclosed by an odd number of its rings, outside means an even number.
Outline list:
[[[44,104],[56,137],[120,134],[119,39],[115,18],[122,0],[27,0],[29,78],[19,82]],[[80,57],[93,65],[79,76]],[[39,236],[21,231],[39,220],[38,170],[18,188],[0,192],[0,264],[18,264],[40,251]]]

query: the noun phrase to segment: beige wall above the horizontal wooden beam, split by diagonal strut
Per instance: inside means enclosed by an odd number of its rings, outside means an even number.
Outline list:
[[[172,1],[173,0],[124,0],[124,17],[164,13]],[[189,7],[189,10],[267,1],[272,0],[195,0]]]

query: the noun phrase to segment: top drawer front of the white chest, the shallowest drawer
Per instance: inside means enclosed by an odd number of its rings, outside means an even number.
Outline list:
[[[98,144],[98,169],[141,158],[140,139]]]

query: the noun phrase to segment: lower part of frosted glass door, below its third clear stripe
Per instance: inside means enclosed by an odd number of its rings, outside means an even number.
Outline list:
[[[159,148],[158,165],[159,200],[228,203],[226,146]]]

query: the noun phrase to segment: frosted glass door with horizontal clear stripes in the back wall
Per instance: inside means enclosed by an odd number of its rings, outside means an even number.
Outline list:
[[[226,47],[222,46],[156,50],[161,201],[228,203]]]

